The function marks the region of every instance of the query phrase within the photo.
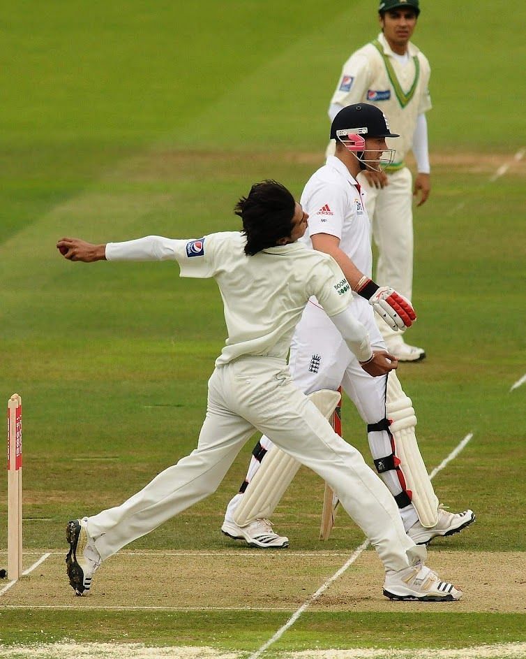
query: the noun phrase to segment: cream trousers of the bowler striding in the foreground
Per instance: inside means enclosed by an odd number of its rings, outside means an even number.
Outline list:
[[[389,490],[359,451],[297,389],[284,361],[263,356],[214,370],[197,449],[122,505],[89,517],[88,533],[101,558],[213,493],[255,428],[330,484],[386,570],[403,570],[425,558],[423,547],[405,534]]]

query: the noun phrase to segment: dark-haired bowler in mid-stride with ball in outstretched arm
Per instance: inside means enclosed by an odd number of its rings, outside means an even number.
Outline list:
[[[323,395],[313,403],[292,381],[287,352],[303,309],[315,297],[364,372],[381,377],[396,368],[396,360],[371,347],[366,328],[350,310],[350,285],[336,261],[297,242],[308,214],[285,187],[274,181],[255,184],[237,203],[236,215],[242,232],[198,240],[148,236],[107,245],[77,238],[57,243],[71,261],[174,260],[183,277],[213,277],[228,333],[209,379],[197,448],[123,504],[68,523],[70,585],[84,595],[103,560],[213,493],[256,429],[338,494],[382,560],[384,595],[460,599],[453,584],[424,565],[426,548],[405,533],[389,490],[326,420],[336,405],[333,392],[328,403]]]

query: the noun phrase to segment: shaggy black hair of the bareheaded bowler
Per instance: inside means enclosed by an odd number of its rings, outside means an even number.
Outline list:
[[[280,238],[288,238],[294,229],[295,211],[294,197],[281,183],[266,180],[253,184],[248,196],[241,197],[234,207],[243,221],[245,254],[253,256],[276,247]]]

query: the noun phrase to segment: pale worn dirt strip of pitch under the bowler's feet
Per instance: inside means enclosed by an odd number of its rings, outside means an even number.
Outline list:
[[[34,560],[34,558],[31,558]],[[338,554],[276,552],[133,553],[112,557],[91,593],[75,598],[63,556],[53,553],[1,598],[3,606],[295,611],[346,562]],[[316,611],[458,611],[526,613],[526,552],[431,550],[428,565],[464,592],[460,602],[392,602],[382,595],[383,570],[374,551],[313,602]]]

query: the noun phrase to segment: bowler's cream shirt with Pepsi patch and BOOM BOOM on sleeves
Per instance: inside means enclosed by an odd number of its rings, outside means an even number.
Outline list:
[[[340,266],[328,254],[293,242],[246,256],[239,231],[198,240],[147,236],[106,245],[108,261],[175,260],[181,277],[213,277],[225,310],[228,338],[216,365],[243,355],[285,360],[294,328],[311,296],[329,316],[352,300]]]

